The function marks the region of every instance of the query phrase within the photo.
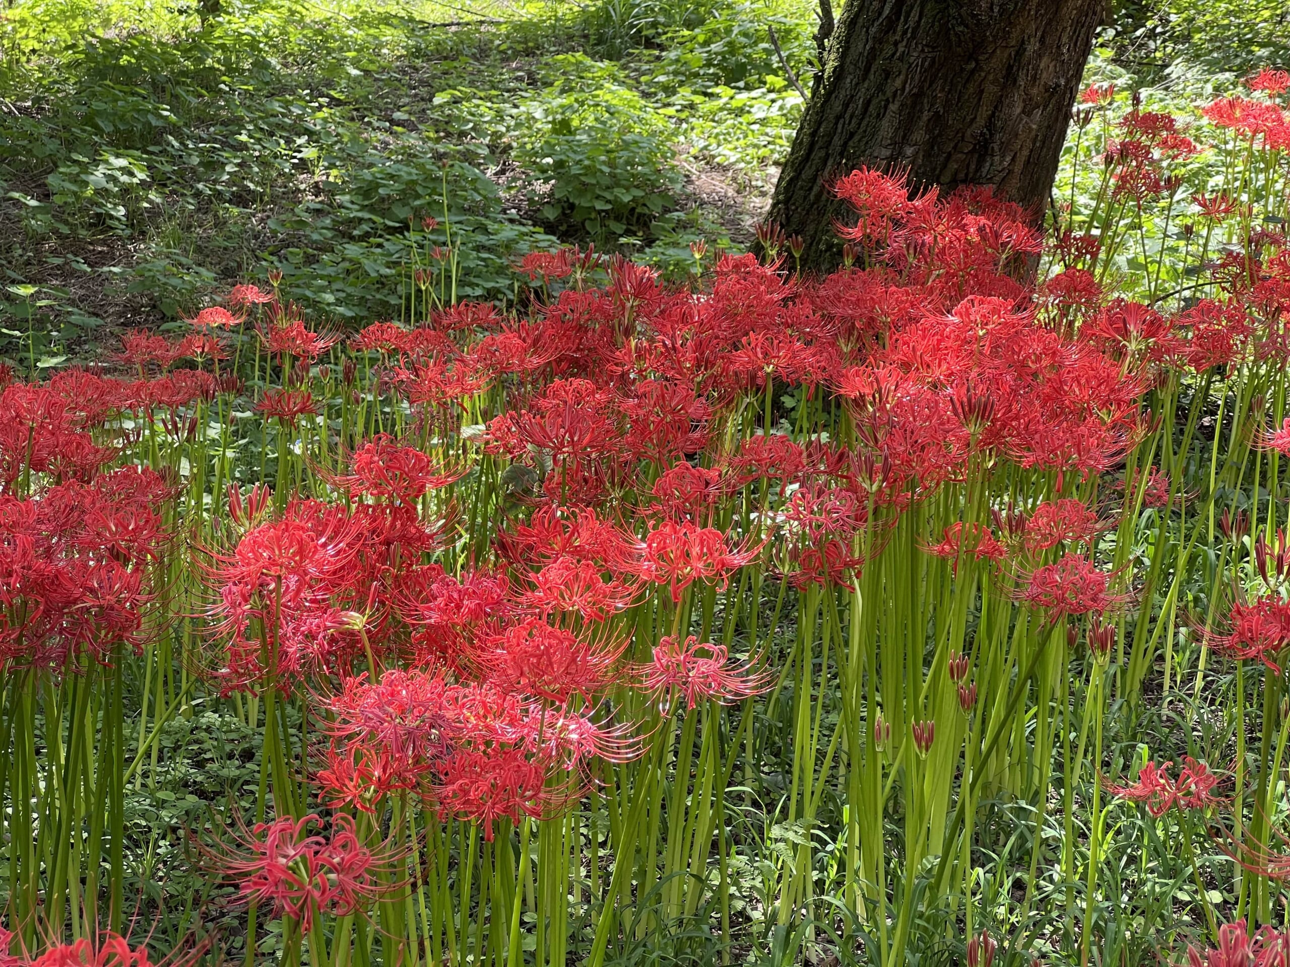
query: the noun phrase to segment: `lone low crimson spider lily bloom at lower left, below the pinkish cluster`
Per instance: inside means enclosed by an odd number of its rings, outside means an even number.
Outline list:
[[[310,834],[308,826],[317,823],[316,814],[261,823],[253,830],[249,855],[223,864],[226,873],[241,881],[246,901],[272,904],[306,932],[319,914],[348,915],[378,892],[372,851],[359,842],[353,820],[337,814],[330,835]]]

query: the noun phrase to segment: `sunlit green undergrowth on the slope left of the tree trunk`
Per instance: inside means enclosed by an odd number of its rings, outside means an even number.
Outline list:
[[[504,300],[519,255],[568,242],[684,275],[691,241],[759,214],[693,182],[765,192],[801,108],[768,27],[809,71],[808,21],[786,0],[22,3],[0,31],[0,356],[30,327],[57,366],[271,271],[335,324],[397,318],[418,266]]]

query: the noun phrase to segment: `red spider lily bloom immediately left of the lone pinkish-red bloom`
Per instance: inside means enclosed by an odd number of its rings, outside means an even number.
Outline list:
[[[583,640],[530,619],[493,638],[475,660],[502,691],[561,705],[580,695],[590,704],[609,682],[626,645],[626,641]]]

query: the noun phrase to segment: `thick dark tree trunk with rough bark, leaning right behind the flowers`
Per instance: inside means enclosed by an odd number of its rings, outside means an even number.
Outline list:
[[[837,266],[828,182],[860,165],[916,187],[992,184],[1042,217],[1103,0],[848,0],[770,218]]]

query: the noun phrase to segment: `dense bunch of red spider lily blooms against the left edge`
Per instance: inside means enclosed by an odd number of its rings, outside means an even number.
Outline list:
[[[80,668],[141,647],[144,572],[175,493],[139,467],[106,469],[94,442],[111,406],[90,382],[0,393],[0,665]],[[79,392],[77,392],[79,391]]]

